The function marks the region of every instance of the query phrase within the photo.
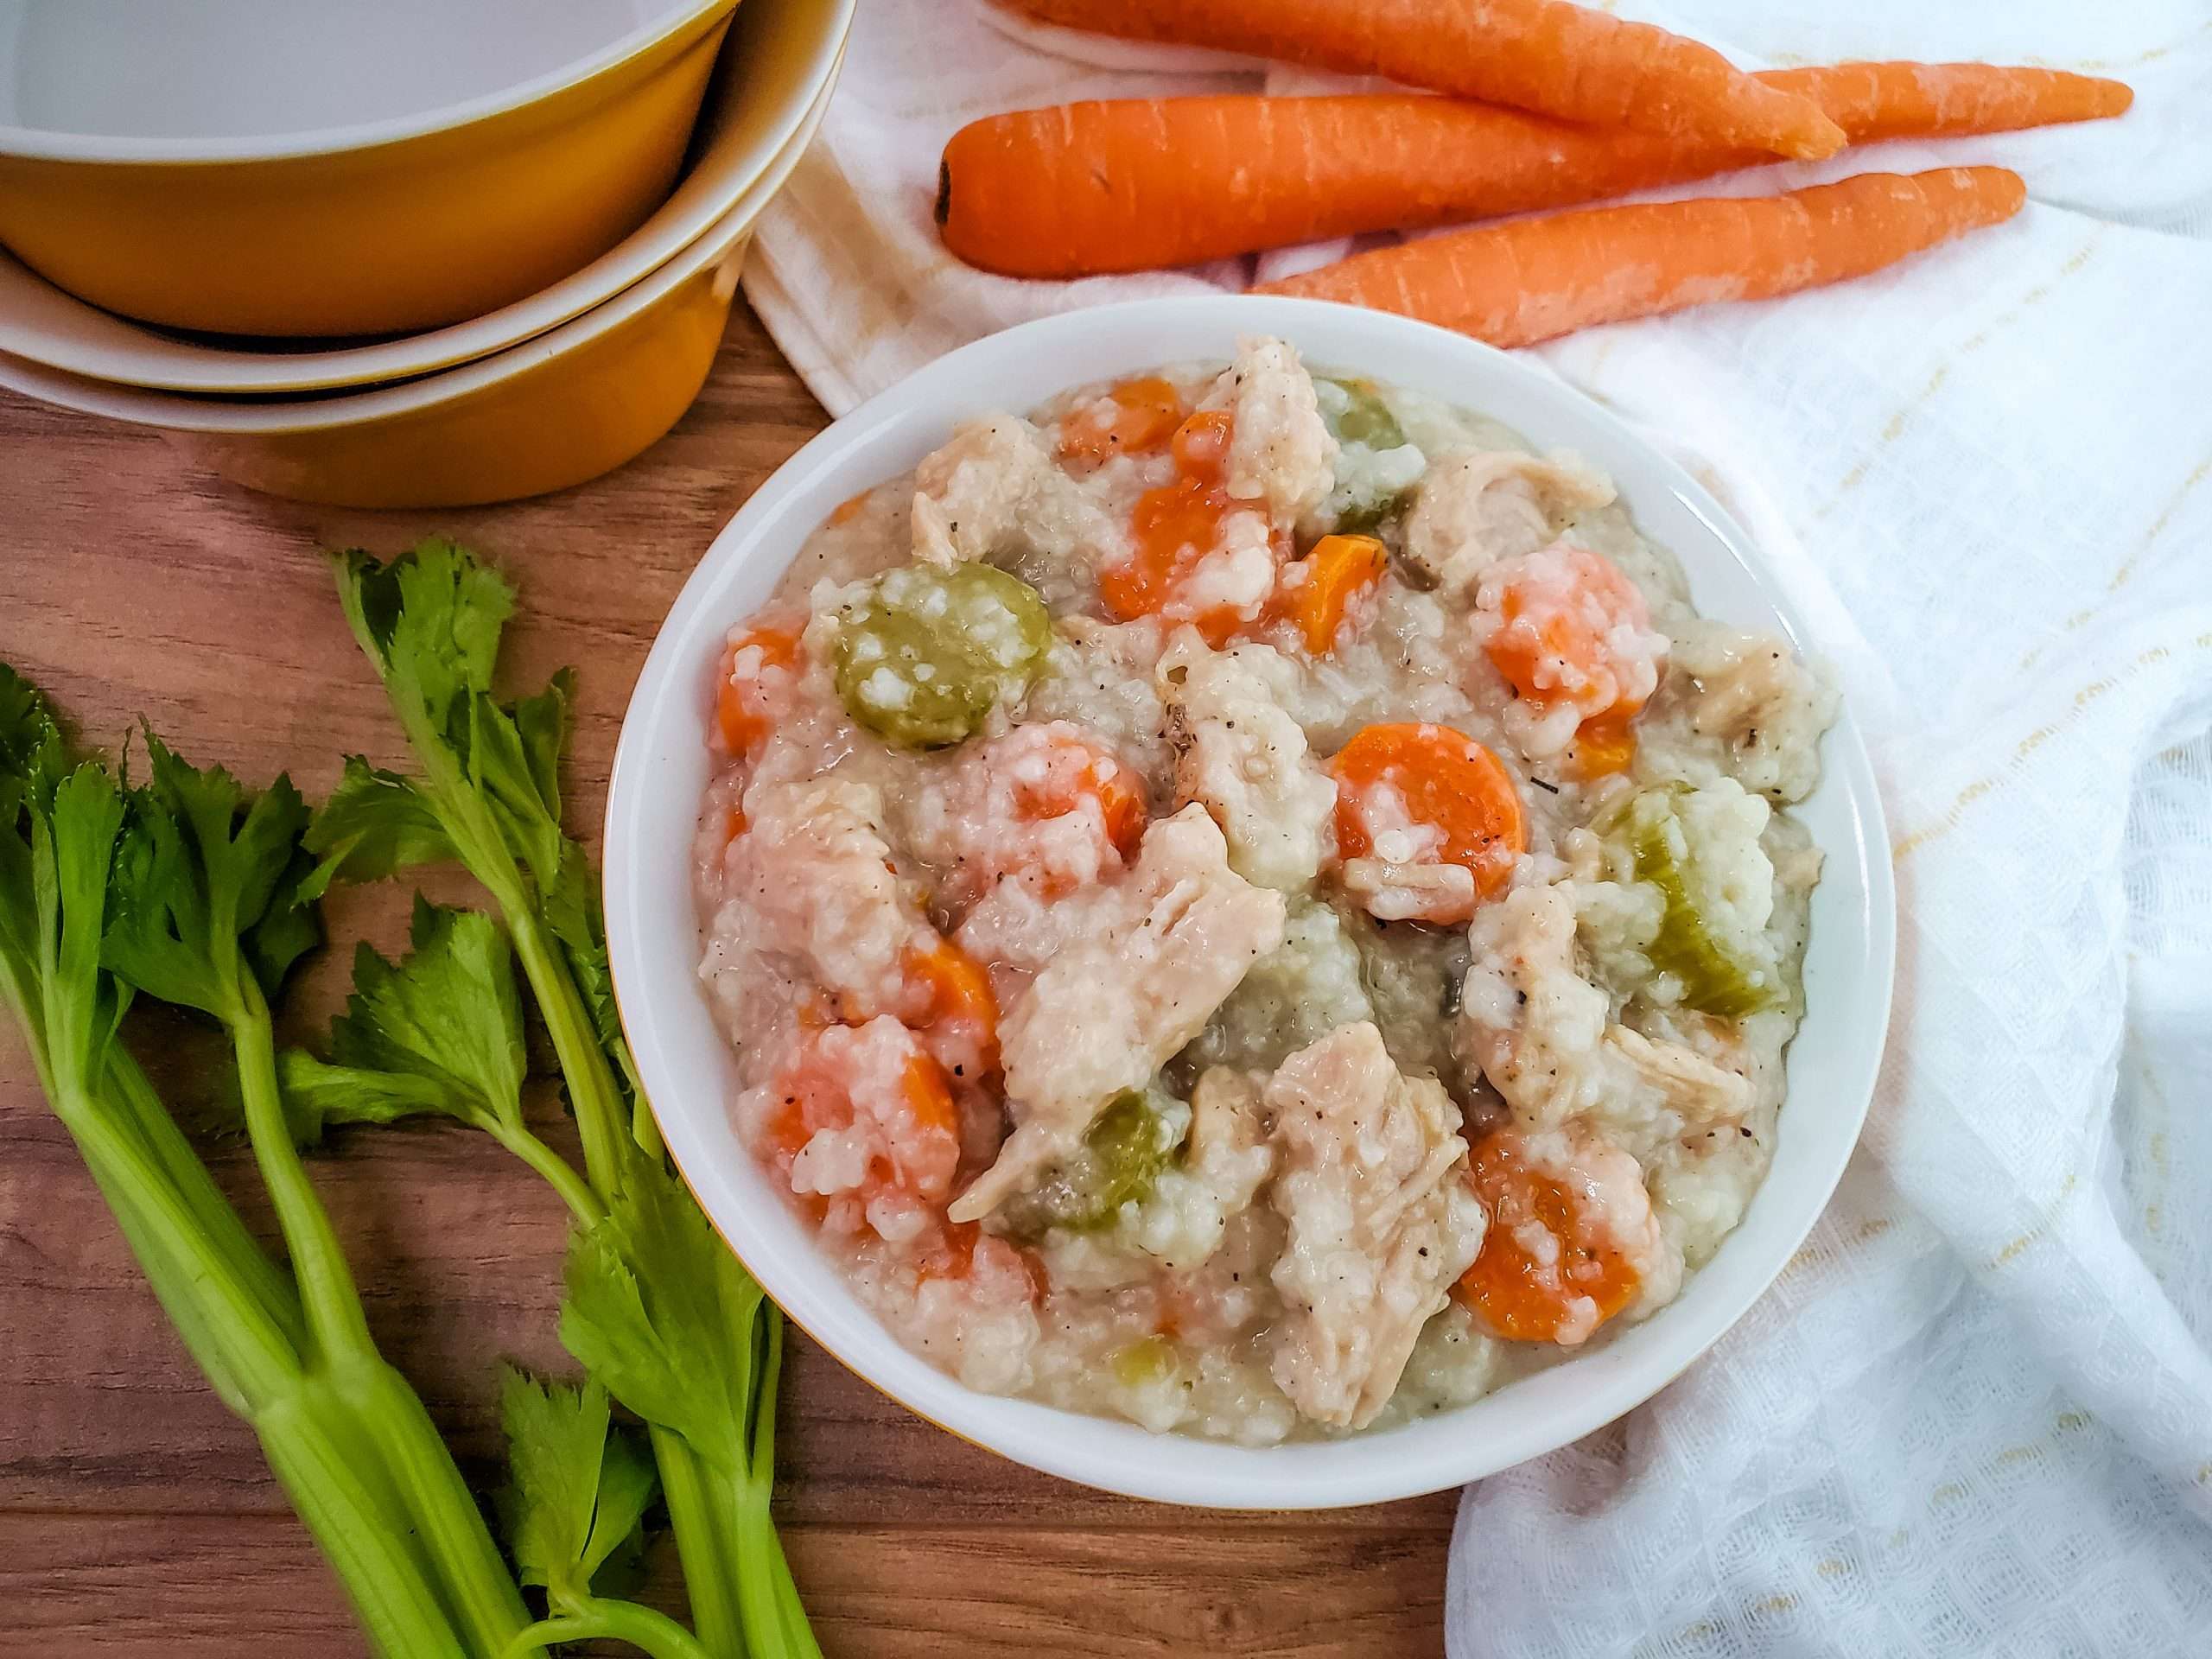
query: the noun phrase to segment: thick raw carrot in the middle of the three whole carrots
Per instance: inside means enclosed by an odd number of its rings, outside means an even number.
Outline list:
[[[2119,115],[2117,80],[1995,64],[1834,64],[1759,80],[1854,144]],[[1770,157],[1413,93],[1130,97],[989,115],[945,146],[945,246],[1009,276],[1093,276],[1369,230],[1573,208]]]

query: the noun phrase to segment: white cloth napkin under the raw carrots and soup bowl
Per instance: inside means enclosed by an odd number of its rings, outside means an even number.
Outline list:
[[[1845,288],[1537,352],[1681,453],[1812,619],[1882,776],[1900,973],[1865,1144],[1776,1287],[1648,1407],[1467,1489],[1451,1655],[2208,1655],[2212,13],[1621,11],[1745,64],[2042,62],[2139,102],[1677,190],[2000,161],[2031,201]],[[1261,84],[1318,82],[867,0],[745,288],[843,411],[1024,316],[1241,283],[982,276],[929,215],[975,115]]]

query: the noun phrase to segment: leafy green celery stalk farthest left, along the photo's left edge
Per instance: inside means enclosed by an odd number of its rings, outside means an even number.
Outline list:
[[[148,750],[155,781],[128,794],[97,765],[69,768],[44,703],[0,666],[0,1000],[148,1283],[217,1394],[254,1427],[376,1650],[495,1655],[526,1615],[420,1402],[374,1349],[372,1367],[330,1365],[319,1349],[319,1325],[347,1323],[330,1292],[349,1292],[349,1276],[303,1303],[117,1037],[133,995],[119,962],[188,1006],[230,1009],[248,1113],[263,1130],[257,1155],[272,1121],[290,1152],[248,960],[281,978],[314,940],[314,918],[279,896],[303,810],[288,787],[248,805],[221,774],[197,774],[150,739]],[[179,810],[223,843],[219,856],[190,856]],[[301,1177],[279,1194],[288,1237],[301,1192],[321,1221]],[[316,1241],[305,1243],[296,1272],[314,1267]],[[453,1493],[489,1577],[434,1555],[451,1520],[436,1500]]]

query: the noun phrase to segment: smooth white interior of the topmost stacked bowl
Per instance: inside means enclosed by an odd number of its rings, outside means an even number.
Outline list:
[[[0,0],[0,126],[257,139],[471,104],[690,0]]]

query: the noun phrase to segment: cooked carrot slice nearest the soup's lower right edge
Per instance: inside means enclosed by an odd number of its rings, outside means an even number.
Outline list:
[[[1458,1296],[1493,1336],[1582,1343],[1635,1301],[1641,1279],[1604,1214],[1535,1168],[1520,1135],[1502,1130],[1475,1141],[1467,1172],[1491,1225]]]

